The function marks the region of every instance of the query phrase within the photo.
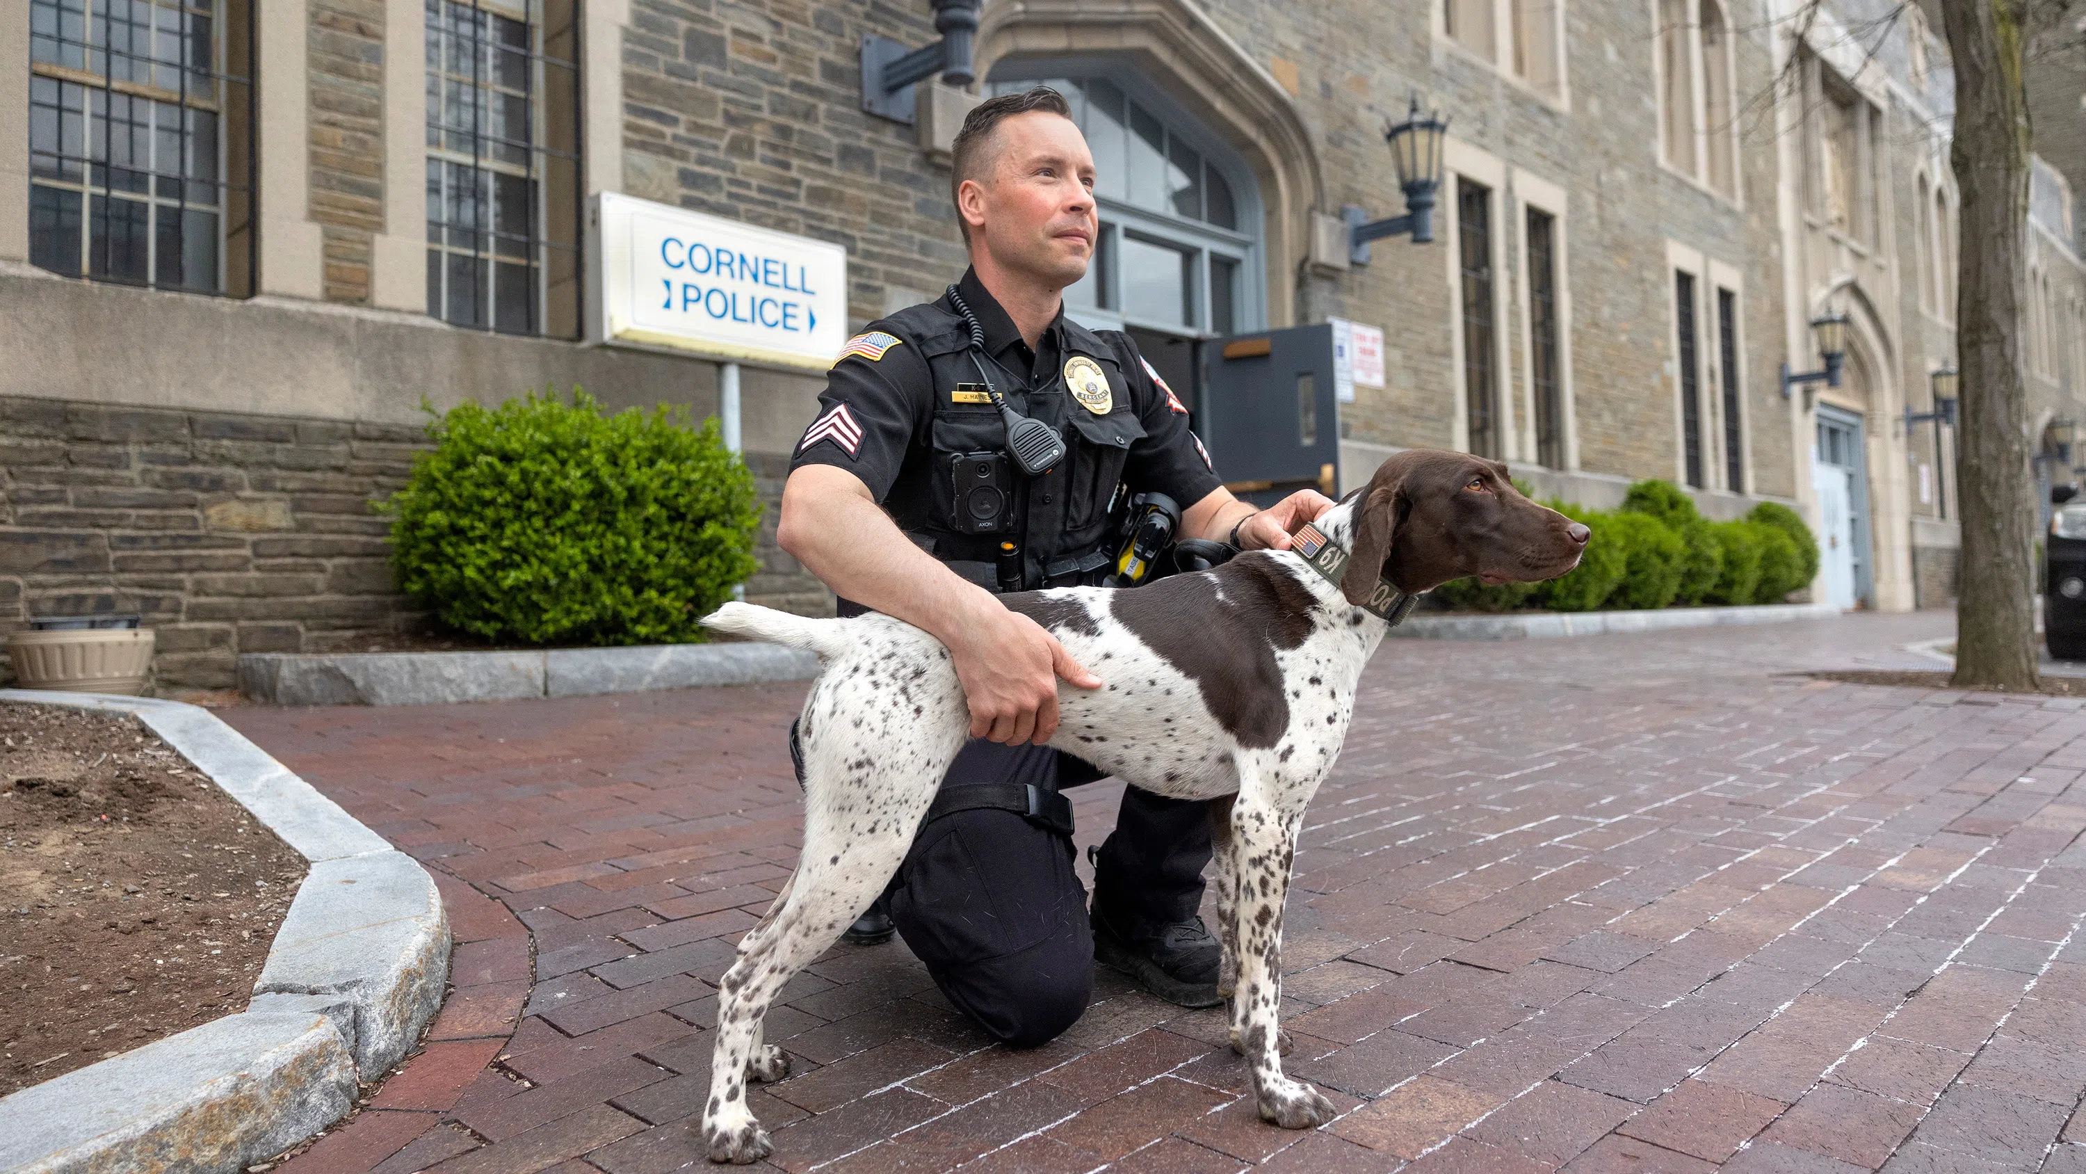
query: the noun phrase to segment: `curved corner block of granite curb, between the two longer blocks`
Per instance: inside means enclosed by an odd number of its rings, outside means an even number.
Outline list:
[[[448,918],[413,857],[388,851],[315,861],[275,930],[254,995],[355,1003],[355,1066],[375,1080],[442,1005]]]

